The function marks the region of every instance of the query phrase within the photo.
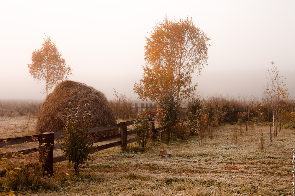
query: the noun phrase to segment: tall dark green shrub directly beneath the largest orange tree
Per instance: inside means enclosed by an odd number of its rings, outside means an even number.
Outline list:
[[[176,137],[175,129],[173,128],[178,123],[178,115],[180,112],[180,103],[177,95],[172,91],[160,96],[157,102],[158,121],[163,131],[163,135],[167,135],[167,141],[173,136]]]

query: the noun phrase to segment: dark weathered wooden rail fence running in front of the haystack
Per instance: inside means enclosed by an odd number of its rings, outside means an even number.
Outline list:
[[[152,121],[152,123],[154,125],[154,121]],[[120,138],[119,141],[108,143],[105,145],[96,146],[96,147],[94,147],[94,151],[105,150],[105,149],[112,148],[115,146],[121,146],[121,148],[122,148],[129,143],[135,142],[135,138],[131,138],[131,139],[127,140],[127,135],[134,134],[133,130],[127,131],[127,126],[130,126],[130,125],[133,125],[133,120],[130,120],[127,122],[120,122],[115,125],[89,128],[88,133],[97,133],[100,131],[120,128],[119,134],[96,138],[95,143],[103,142],[103,141],[107,141],[107,140],[112,140],[115,138]],[[158,130],[159,130],[159,128],[155,129],[155,132]],[[44,163],[44,170],[47,171],[48,173],[53,173],[53,163],[58,163],[60,161],[65,160],[65,157],[63,155],[58,156],[58,157],[53,157],[53,150],[61,149],[62,145],[63,145],[62,143],[54,144],[54,140],[58,139],[58,138],[63,138],[64,134],[65,134],[65,132],[40,133],[39,135],[1,139],[0,140],[0,148],[3,146],[6,146],[6,145],[16,145],[16,144],[22,144],[22,143],[30,143],[30,142],[34,142],[34,141],[38,141],[39,146],[41,147],[43,143],[46,143],[45,147],[46,147],[46,149],[49,149],[49,152],[48,152],[47,158]],[[159,135],[159,134],[157,134],[157,135]],[[38,148],[31,148],[31,149],[26,149],[26,150],[19,150],[19,151],[12,152],[11,154],[22,153],[23,155],[25,155],[25,154],[34,153],[37,151],[39,152],[39,159],[41,160],[42,156],[44,156],[43,155],[44,149],[42,149],[42,148],[39,148],[39,149]],[[0,158],[3,157],[4,155],[7,155],[7,153],[0,154]],[[1,172],[1,174],[3,175],[3,172]]]

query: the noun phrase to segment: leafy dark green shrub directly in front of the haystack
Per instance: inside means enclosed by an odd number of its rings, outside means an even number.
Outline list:
[[[87,133],[88,128],[93,125],[93,116],[89,111],[90,104],[85,104],[83,111],[80,105],[76,108],[72,103],[69,105],[65,123],[65,142],[62,150],[65,152],[65,158],[73,163],[75,174],[78,176],[81,165],[90,160],[90,154],[94,152],[95,139]]]

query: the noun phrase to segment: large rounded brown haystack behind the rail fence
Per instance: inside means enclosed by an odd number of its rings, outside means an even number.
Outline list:
[[[36,134],[63,131],[68,102],[74,107],[81,105],[81,109],[89,103],[89,110],[94,115],[93,127],[117,124],[116,116],[104,93],[84,83],[66,80],[58,84],[43,102],[37,118]],[[113,135],[117,132],[117,129],[107,130],[99,136]]]

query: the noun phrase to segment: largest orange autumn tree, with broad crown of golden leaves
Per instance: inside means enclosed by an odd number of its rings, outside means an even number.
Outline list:
[[[168,89],[179,100],[193,96],[197,83],[192,84],[192,74],[201,74],[207,64],[209,40],[192,19],[176,21],[166,16],[146,37],[144,74],[133,88],[138,98],[157,100]]]

